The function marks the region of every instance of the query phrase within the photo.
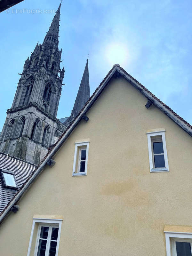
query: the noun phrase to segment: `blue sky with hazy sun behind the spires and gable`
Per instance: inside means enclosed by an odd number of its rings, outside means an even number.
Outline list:
[[[25,60],[43,42],[60,1],[25,0],[0,13],[0,131]],[[40,10],[40,11],[38,11]],[[32,14],[34,12],[34,14]],[[190,0],[65,0],[60,42],[65,76],[58,118],[69,116],[89,53],[90,91],[119,63],[192,123]]]

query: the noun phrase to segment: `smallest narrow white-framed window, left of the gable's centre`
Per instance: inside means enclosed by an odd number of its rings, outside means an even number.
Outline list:
[[[75,142],[73,176],[87,175],[89,141]]]

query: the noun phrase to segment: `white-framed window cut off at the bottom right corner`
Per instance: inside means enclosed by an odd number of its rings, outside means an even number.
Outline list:
[[[192,233],[164,232],[167,256],[192,256]]]

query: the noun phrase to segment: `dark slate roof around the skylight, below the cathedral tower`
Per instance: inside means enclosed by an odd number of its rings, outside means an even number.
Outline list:
[[[18,188],[20,189],[35,170],[36,166],[0,152],[0,169],[1,168],[14,172]],[[16,192],[17,190],[4,188],[2,186],[2,180],[0,179],[0,213],[4,210],[13,196],[15,196]]]

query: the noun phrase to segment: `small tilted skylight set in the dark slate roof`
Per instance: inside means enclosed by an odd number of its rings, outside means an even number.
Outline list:
[[[0,169],[0,171],[3,187],[17,189],[17,183],[15,180],[14,172],[5,169]]]

